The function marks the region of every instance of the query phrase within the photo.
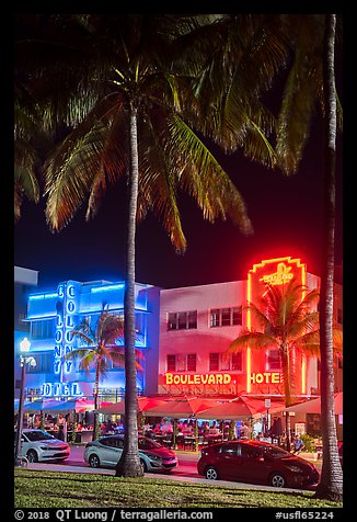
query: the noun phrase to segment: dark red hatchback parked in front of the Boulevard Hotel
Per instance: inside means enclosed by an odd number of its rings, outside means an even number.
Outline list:
[[[263,441],[230,441],[200,452],[199,475],[209,480],[240,480],[277,488],[315,485],[319,472],[308,461]]]

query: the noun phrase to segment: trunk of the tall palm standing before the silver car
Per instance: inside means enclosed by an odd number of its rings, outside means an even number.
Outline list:
[[[117,477],[143,475],[138,451],[137,372],[135,360],[135,237],[138,202],[139,160],[137,137],[137,109],[130,109],[129,205],[127,226],[126,285],[124,294],[125,342],[125,442],[116,466]]]

